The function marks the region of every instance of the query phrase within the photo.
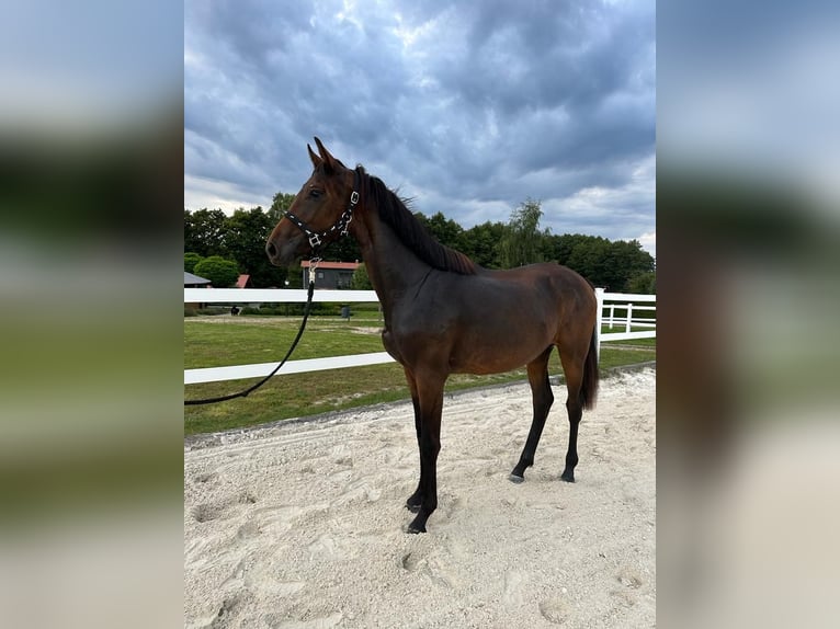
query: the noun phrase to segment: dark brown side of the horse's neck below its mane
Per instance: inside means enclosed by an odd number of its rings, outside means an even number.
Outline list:
[[[395,300],[428,275],[430,266],[383,222],[375,208],[353,225],[356,226],[354,236],[361,247],[371,284],[387,313]]]

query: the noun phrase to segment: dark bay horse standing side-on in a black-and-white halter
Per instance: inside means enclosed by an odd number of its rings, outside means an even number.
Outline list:
[[[497,374],[527,366],[534,415],[510,480],[522,482],[554,401],[548,358],[566,375],[569,445],[560,478],[575,481],[578,424],[598,391],[592,285],[554,263],[496,271],[440,244],[405,203],[363,167],[347,168],[315,138],[314,171],[265,244],[286,266],[342,235],[361,248],[385,319],[382,341],[406,373],[420,449],[420,481],[406,506],[408,533],[425,533],[438,507],[443,389],[450,374]]]

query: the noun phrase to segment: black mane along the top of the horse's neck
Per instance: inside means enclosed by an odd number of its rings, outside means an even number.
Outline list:
[[[440,271],[461,275],[475,275],[475,263],[454,249],[438,242],[422,226],[406,203],[389,190],[381,179],[370,175],[364,168],[356,167],[362,181],[362,203],[376,206],[382,218],[396,232],[402,243],[420,260]]]

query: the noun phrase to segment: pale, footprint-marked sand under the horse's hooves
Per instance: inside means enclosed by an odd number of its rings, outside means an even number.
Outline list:
[[[447,396],[425,535],[410,403],[188,445],[184,626],[654,627],[655,382],[602,381],[574,484],[565,388],[522,484],[527,385]]]

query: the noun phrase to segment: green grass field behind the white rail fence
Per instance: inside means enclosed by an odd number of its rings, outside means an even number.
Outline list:
[[[299,318],[190,317],[184,319],[184,368],[219,367],[280,361],[294,339]],[[375,316],[344,321],[311,318],[293,361],[382,352],[382,322]],[[604,332],[608,330],[604,329]],[[613,331],[620,331],[613,329]],[[601,368],[656,359],[656,339],[601,345]],[[552,375],[561,374],[554,353]],[[524,380],[525,369],[492,376],[456,374],[446,390]],[[184,387],[188,399],[236,392],[257,380],[228,380]],[[184,408],[184,434],[252,426],[276,420],[390,402],[408,398],[402,368],[396,363],[292,374],[272,378],[247,398],[218,404]],[[557,396],[561,399],[560,396]]]

